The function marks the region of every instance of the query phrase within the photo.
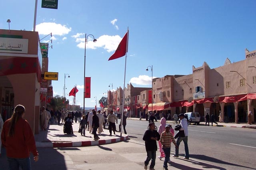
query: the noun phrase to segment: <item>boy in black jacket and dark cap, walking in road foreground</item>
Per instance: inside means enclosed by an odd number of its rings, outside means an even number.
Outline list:
[[[149,129],[146,130],[143,136],[143,140],[145,141],[145,147],[147,152],[147,158],[144,161],[144,169],[148,169],[149,161],[151,160],[149,170],[154,170],[154,166],[156,164],[156,140],[160,140],[160,134],[155,130],[155,124],[150,122],[148,124]]]

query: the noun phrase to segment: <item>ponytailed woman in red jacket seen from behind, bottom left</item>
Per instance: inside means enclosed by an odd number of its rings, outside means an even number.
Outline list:
[[[3,126],[1,140],[6,148],[6,156],[10,170],[31,170],[30,152],[34,161],[38,161],[36,141],[32,129],[25,119],[25,107],[17,105],[12,117]]]

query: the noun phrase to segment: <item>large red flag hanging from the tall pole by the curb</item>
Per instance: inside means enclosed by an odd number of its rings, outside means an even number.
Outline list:
[[[128,31],[126,32],[126,34],[124,35],[123,39],[119,43],[116,51],[114,52],[114,54],[111,55],[111,57],[108,59],[108,61],[112,60],[112,59],[120,58],[120,57],[122,57],[122,56],[124,56],[126,54],[126,52],[128,51],[128,48],[126,49],[126,47],[128,47],[127,38],[128,38]]]

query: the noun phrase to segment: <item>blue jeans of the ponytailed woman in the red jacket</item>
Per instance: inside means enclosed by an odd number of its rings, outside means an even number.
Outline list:
[[[19,170],[21,167],[22,170],[31,170],[30,158],[9,158],[7,157],[9,162],[10,170]]]

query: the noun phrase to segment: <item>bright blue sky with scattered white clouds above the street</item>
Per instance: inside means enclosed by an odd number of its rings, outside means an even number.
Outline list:
[[[0,28],[32,30],[35,0],[1,0]],[[255,0],[59,0],[58,10],[41,8],[38,0],[36,31],[40,38],[52,32],[48,71],[58,72],[52,81],[54,95],[63,95],[78,86],[77,103],[83,105],[84,34],[98,40],[86,44],[86,77],[92,77],[91,98],[86,107],[94,107],[95,96],[123,87],[124,57],[108,61],[129,27],[126,84],[151,87],[153,77],[187,75],[192,65],[220,67],[245,59],[244,49],[256,50]],[[49,41],[50,36],[44,39]],[[43,41],[43,40],[42,40]],[[72,97],[67,97],[72,101]]]

